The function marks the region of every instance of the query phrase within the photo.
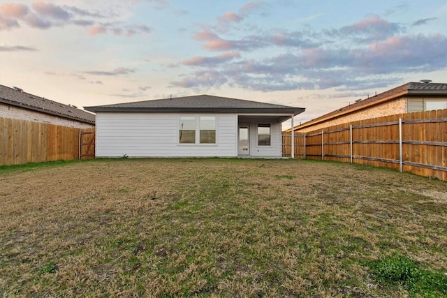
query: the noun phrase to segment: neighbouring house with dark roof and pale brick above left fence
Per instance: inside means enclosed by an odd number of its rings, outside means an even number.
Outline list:
[[[95,115],[56,101],[0,85],[0,117],[73,128],[93,128]]]

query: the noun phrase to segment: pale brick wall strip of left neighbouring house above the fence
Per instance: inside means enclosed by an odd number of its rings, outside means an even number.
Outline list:
[[[92,128],[93,124],[87,124],[80,121],[65,119],[62,117],[44,114],[32,110],[22,109],[20,107],[13,107],[0,103],[0,117],[20,119],[26,121],[43,122],[47,124],[56,124],[60,126],[67,126],[73,128]]]

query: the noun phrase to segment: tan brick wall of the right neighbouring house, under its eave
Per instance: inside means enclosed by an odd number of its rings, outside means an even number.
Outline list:
[[[309,131],[315,131],[317,129],[323,129],[325,127],[345,124],[352,121],[372,119],[383,116],[390,116],[393,114],[401,114],[406,112],[406,98],[397,98],[396,100],[391,100],[386,103],[379,105],[374,105],[373,107],[368,107],[365,110],[360,110],[345,114],[341,117],[336,117],[329,121],[321,122],[319,124],[308,126],[306,128],[301,128],[296,131],[298,133],[307,133]]]

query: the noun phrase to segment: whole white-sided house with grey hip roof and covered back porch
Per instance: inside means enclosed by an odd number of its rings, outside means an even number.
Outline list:
[[[281,157],[281,123],[305,109],[198,95],[85,110],[97,157]]]

